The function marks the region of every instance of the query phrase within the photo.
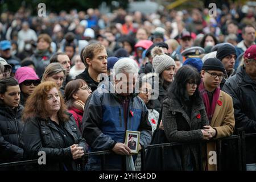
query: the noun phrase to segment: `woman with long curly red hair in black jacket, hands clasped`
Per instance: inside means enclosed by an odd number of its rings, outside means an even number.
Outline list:
[[[55,82],[46,81],[36,87],[26,102],[22,120],[25,158],[38,159],[39,151],[44,151],[46,165],[40,169],[77,170],[76,159],[85,154],[86,143]]]

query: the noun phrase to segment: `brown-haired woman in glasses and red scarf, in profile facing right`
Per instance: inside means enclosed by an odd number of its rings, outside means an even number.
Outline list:
[[[79,129],[81,129],[84,105],[90,93],[92,93],[92,90],[82,79],[69,81],[65,86],[65,102]]]

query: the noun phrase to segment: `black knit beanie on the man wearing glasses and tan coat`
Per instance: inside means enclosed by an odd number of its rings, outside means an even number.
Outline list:
[[[202,69],[221,71],[221,72],[225,73],[224,65],[217,58],[208,58],[207,60],[205,60]]]

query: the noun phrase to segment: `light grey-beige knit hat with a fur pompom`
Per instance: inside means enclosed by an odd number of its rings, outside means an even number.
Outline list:
[[[174,59],[164,54],[160,47],[154,47],[151,51],[153,57],[153,68],[155,73],[161,74],[166,68],[170,66],[176,67]]]

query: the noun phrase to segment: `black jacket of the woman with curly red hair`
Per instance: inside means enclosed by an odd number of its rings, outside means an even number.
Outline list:
[[[87,151],[85,139],[82,139],[81,133],[76,125],[72,115],[69,121],[64,122],[64,127],[73,137],[73,144],[78,144]],[[71,148],[64,147],[64,140],[59,130],[50,119],[38,117],[27,119],[22,132],[22,144],[24,156],[28,159],[38,159],[38,152],[46,152],[46,165],[40,168],[47,171],[63,170],[63,162],[72,164],[72,169],[77,170],[77,163],[72,158]]]

